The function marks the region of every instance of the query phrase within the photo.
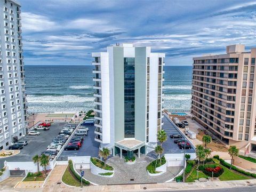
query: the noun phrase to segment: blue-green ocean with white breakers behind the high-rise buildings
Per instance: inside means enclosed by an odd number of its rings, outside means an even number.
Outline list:
[[[28,111],[81,111],[93,109],[94,66],[25,66]],[[164,67],[164,108],[190,110],[191,66]]]

